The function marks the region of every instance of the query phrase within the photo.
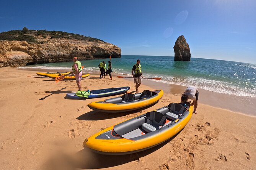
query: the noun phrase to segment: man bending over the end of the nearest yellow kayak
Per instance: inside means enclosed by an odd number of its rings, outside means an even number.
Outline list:
[[[187,89],[184,91],[183,95],[181,96],[181,103],[183,102],[187,102],[188,99],[193,100],[192,105],[195,105],[194,108],[194,112],[195,114],[197,114],[196,112],[196,108],[197,108],[197,101],[198,101],[198,89],[194,86],[189,86],[187,87]]]

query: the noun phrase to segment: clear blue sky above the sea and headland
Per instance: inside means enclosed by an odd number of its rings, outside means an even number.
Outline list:
[[[24,26],[99,38],[122,55],[174,56],[184,35],[191,57],[256,64],[256,0],[1,0],[0,32]]]

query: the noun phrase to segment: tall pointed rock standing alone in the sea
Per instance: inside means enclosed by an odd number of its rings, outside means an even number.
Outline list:
[[[183,35],[176,40],[174,49],[174,61],[190,61],[191,53],[189,45]]]

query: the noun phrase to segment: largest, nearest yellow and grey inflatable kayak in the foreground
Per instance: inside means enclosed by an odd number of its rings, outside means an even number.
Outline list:
[[[100,154],[124,155],[143,151],[170,139],[189,122],[193,106],[170,103],[152,112],[113,125],[83,142]]]

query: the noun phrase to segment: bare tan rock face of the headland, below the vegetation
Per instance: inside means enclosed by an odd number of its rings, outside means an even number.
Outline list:
[[[41,43],[0,41],[0,67],[57,63],[95,58],[121,57],[121,49],[111,43],[76,39],[36,37]]]

